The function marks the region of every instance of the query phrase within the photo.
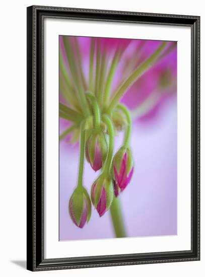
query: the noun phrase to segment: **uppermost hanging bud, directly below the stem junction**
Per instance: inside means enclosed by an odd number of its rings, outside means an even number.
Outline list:
[[[93,170],[102,168],[107,157],[108,144],[103,131],[94,131],[86,143],[86,159]]]

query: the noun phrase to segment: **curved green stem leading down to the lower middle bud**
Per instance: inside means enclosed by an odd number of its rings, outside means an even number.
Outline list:
[[[113,148],[114,148],[114,129],[113,129],[112,121],[110,120],[108,115],[103,114],[102,119],[107,125],[108,132],[109,132],[109,150],[108,150],[105,167],[103,169],[102,174],[104,174],[105,176],[108,176],[110,171],[110,166],[112,163],[112,155],[113,155]]]

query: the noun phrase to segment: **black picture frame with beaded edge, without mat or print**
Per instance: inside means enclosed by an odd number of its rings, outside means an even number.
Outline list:
[[[43,21],[45,18],[189,26],[191,28],[191,250],[44,258]],[[74,8],[27,8],[27,269],[32,271],[200,259],[200,17]]]

